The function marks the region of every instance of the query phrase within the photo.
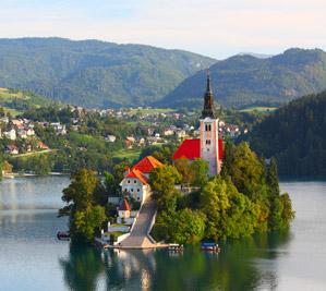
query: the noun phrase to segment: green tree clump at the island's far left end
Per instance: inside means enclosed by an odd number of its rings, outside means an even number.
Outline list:
[[[90,242],[96,229],[106,220],[105,208],[96,205],[95,193],[99,181],[87,169],[72,173],[71,180],[62,195],[62,201],[68,205],[59,210],[59,216],[69,216],[73,240]]]

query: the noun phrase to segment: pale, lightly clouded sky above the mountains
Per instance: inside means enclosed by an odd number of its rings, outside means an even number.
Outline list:
[[[326,50],[326,0],[1,0],[0,37],[100,39],[225,59]]]

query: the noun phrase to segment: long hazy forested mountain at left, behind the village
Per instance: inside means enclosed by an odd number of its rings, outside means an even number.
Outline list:
[[[156,101],[214,59],[181,50],[62,38],[0,39],[0,87],[86,107]]]

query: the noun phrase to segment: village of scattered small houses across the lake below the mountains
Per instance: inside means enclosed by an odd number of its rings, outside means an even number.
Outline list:
[[[4,116],[0,118],[0,141],[2,140],[3,153],[10,156],[20,154],[33,154],[51,150],[41,141],[35,131],[35,126],[51,129],[56,135],[64,136],[70,132],[79,132],[83,125],[83,118],[96,116],[99,118],[110,117],[126,123],[137,122],[141,133],[125,135],[123,145],[125,149],[143,148],[150,145],[167,144],[171,140],[183,141],[188,137],[200,136],[200,129],[195,128],[194,112],[180,113],[173,110],[164,111],[153,108],[125,108],[125,109],[85,109],[82,107],[69,107],[74,118],[68,122],[51,122],[47,120],[33,121],[26,118],[13,118]],[[237,124],[228,124],[219,121],[219,131],[224,136],[237,138],[247,133],[247,129],[241,129]],[[107,143],[116,143],[118,136],[105,134],[101,136]],[[85,151],[87,147],[80,146],[79,150]]]

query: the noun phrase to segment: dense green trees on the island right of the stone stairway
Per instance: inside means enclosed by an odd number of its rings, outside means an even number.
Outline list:
[[[225,155],[221,174],[213,178],[201,159],[180,159],[150,173],[157,241],[239,239],[289,227],[294,213],[289,195],[280,193],[276,160],[265,165],[246,143],[227,144]],[[191,186],[191,193],[182,194],[178,183]]]

